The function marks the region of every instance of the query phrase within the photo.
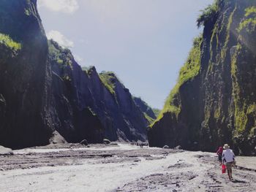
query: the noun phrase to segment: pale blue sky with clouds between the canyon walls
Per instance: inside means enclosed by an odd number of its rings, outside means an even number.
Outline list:
[[[48,39],[80,66],[115,72],[134,96],[162,109],[214,0],[38,0]]]

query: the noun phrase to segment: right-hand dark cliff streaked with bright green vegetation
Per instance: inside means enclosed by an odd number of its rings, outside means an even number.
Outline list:
[[[219,0],[197,20],[204,26],[165,109],[148,131],[151,146],[214,151],[256,146],[256,2]]]

